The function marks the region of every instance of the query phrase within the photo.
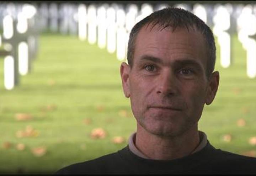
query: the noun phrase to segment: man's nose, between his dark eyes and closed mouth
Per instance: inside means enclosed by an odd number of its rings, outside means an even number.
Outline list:
[[[158,79],[156,93],[163,96],[176,94],[178,89],[177,78],[170,70],[163,71]]]

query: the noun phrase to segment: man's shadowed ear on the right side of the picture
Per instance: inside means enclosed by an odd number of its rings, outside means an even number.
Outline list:
[[[208,85],[207,95],[205,100],[206,105],[210,105],[210,103],[213,102],[218,90],[218,86],[219,86],[219,72],[214,71],[214,73],[212,73],[212,76],[209,80],[209,85]]]

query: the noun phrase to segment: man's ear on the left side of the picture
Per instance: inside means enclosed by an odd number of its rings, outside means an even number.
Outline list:
[[[130,97],[129,72],[130,72],[130,66],[127,65],[125,62],[123,62],[120,67],[120,74],[122,79],[124,95],[127,98]]]

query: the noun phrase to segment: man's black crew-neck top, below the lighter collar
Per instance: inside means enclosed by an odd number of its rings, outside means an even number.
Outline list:
[[[215,149],[209,141],[202,150],[174,160],[140,158],[126,146],[55,174],[256,174],[256,158]]]

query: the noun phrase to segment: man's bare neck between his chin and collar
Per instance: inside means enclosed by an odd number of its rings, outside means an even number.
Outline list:
[[[145,156],[154,160],[173,160],[191,154],[199,145],[197,128],[177,137],[160,137],[137,127],[135,146]]]

